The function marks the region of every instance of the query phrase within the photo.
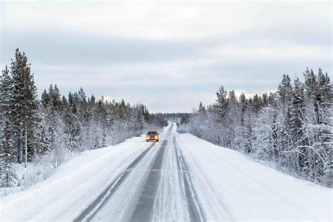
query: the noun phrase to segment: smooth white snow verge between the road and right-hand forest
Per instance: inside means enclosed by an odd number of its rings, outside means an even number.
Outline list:
[[[232,220],[332,221],[332,189],[282,174],[188,133],[177,134],[177,141],[199,193],[212,190]]]

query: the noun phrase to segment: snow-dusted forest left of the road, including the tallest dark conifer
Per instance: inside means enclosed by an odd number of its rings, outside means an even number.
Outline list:
[[[61,96],[51,84],[39,99],[30,66],[25,53],[16,49],[0,76],[1,187],[16,184],[13,163],[49,155],[57,167],[67,152],[120,143],[140,135],[148,124],[166,122],[141,103],[86,96],[82,88]]]

